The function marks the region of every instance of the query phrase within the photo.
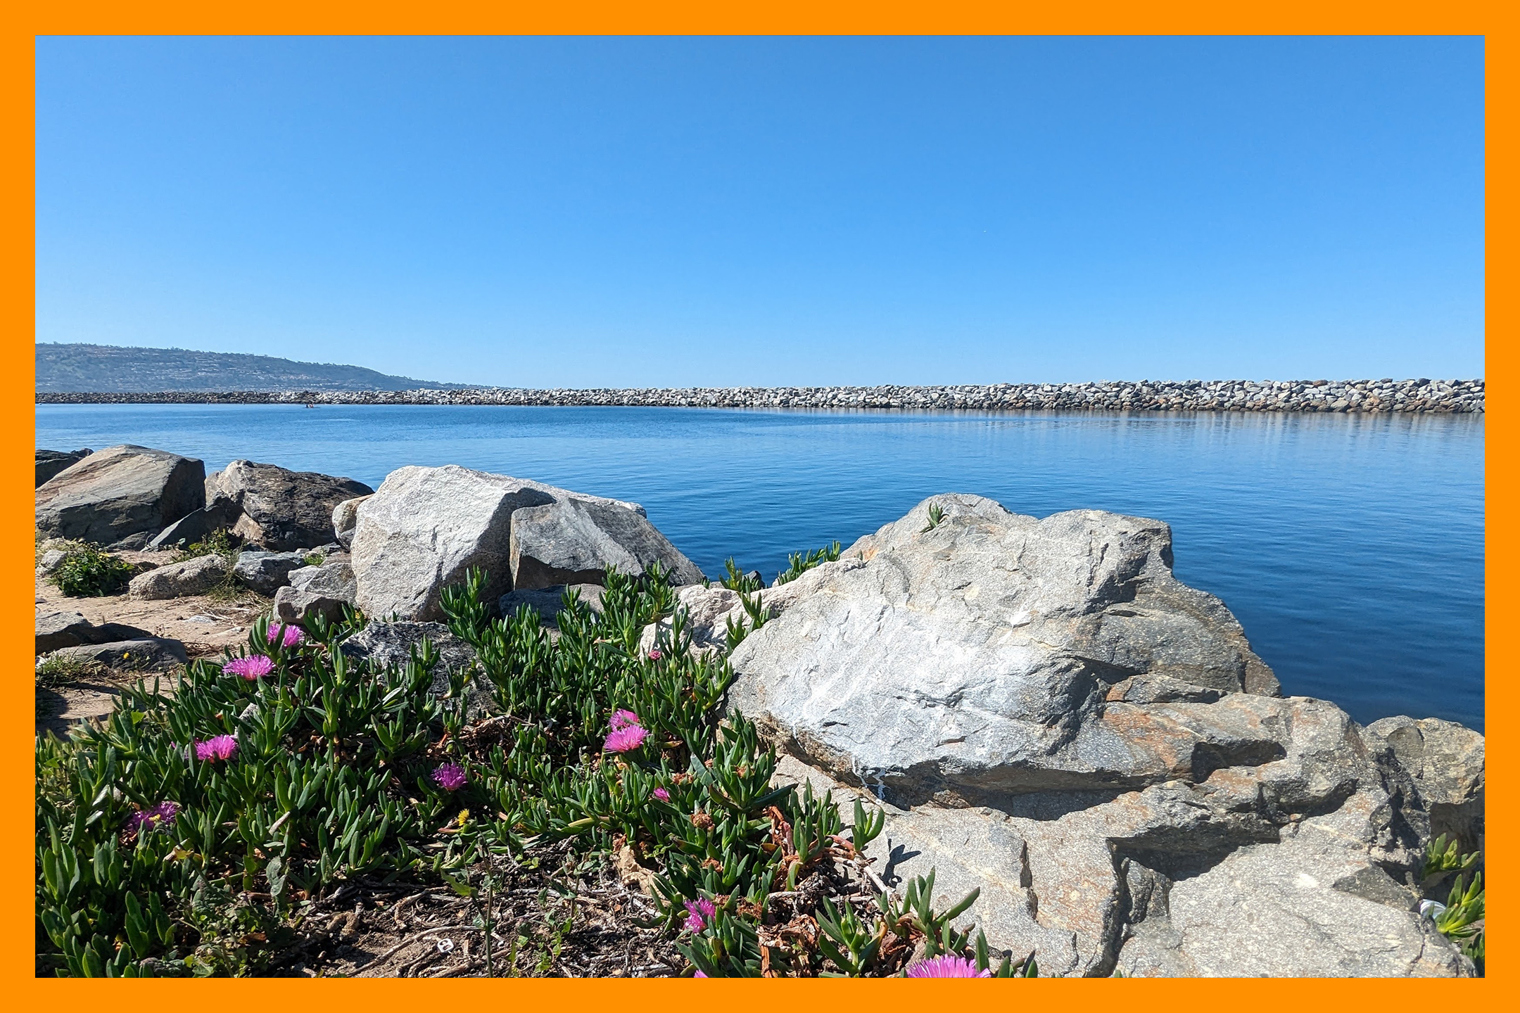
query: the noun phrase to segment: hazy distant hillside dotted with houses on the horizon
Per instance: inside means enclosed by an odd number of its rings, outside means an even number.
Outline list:
[[[362,366],[184,348],[38,345],[36,392],[160,390],[461,390],[468,384],[388,377]]]

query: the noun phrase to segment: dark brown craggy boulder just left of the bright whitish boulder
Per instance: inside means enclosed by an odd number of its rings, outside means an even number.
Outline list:
[[[277,465],[234,460],[205,480],[207,506],[237,513],[233,532],[272,551],[325,545],[333,541],[333,507],[374,492],[353,478]]]

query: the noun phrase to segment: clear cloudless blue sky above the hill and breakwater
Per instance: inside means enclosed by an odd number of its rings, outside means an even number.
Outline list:
[[[40,39],[36,340],[502,386],[1484,374],[1480,39]]]

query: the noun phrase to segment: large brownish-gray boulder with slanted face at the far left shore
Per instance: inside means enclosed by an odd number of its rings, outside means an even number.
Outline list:
[[[93,453],[38,486],[36,530],[137,548],[202,506],[205,465],[123,443]]]

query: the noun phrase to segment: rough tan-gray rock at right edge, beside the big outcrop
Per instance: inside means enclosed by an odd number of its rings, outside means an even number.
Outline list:
[[[1388,749],[1430,811],[1430,832],[1484,847],[1484,737],[1455,721],[1385,717],[1366,726],[1370,747]]]

